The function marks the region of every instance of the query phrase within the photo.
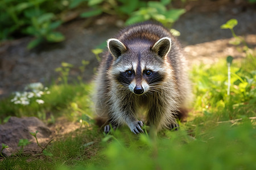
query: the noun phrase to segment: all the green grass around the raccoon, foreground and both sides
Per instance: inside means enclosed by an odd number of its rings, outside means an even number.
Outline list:
[[[49,87],[51,94],[42,97],[42,105],[2,100],[2,122],[10,115],[42,116],[49,122],[51,113],[90,125],[51,142],[47,151],[52,156],[11,156],[0,160],[0,169],[255,169],[255,66],[255,53],[234,59],[229,96],[224,59],[194,66],[195,101],[188,120],[179,131],[161,131],[158,138],[134,135],[128,128],[104,136],[87,116],[93,115],[92,84],[55,84]]]

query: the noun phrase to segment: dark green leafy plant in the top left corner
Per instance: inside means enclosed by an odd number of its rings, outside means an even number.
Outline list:
[[[59,42],[64,40],[60,32],[54,31],[61,24],[52,11],[63,10],[62,3],[57,0],[1,0],[0,1],[0,40],[20,37],[23,34],[32,35],[27,48],[34,48],[43,41]],[[55,7],[55,8],[54,8]],[[55,21],[53,21],[55,20]]]

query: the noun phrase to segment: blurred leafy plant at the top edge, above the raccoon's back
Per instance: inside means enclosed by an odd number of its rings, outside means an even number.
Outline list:
[[[71,8],[85,3],[91,8],[89,11],[83,12],[81,17],[91,17],[102,14],[103,12],[111,15],[118,15],[119,18],[127,19],[126,24],[134,24],[145,20],[154,19],[163,24],[174,23],[180,15],[184,14],[184,9],[171,9],[171,0],[162,1],[139,1],[139,0],[74,0],[71,2]]]

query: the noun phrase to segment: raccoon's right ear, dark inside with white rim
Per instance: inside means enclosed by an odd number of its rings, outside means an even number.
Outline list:
[[[171,50],[171,38],[169,37],[163,37],[162,39],[155,42],[155,44],[152,47],[152,51],[158,54],[160,57],[166,56],[168,52]]]

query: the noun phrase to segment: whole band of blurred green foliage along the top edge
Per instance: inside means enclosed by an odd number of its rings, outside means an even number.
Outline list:
[[[105,13],[126,20],[126,24],[154,19],[166,25],[185,12],[172,8],[171,0],[0,0],[0,40],[31,35],[34,39],[28,49],[42,42],[63,41],[64,35],[55,31],[62,24],[60,16],[76,10],[82,11],[82,18]]]

